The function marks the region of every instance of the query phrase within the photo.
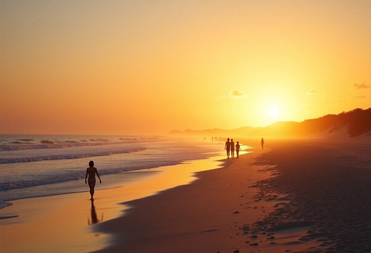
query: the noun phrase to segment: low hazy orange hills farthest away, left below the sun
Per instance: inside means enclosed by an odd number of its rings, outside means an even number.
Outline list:
[[[210,137],[211,136],[246,136],[246,134],[255,131],[258,128],[254,127],[240,127],[237,129],[231,129],[231,130],[225,130],[225,129],[219,129],[219,128],[214,128],[214,129],[206,129],[206,130],[190,130],[187,129],[185,131],[178,131],[178,130],[173,130],[168,133],[168,135],[176,135],[176,136],[201,136],[201,137]]]

